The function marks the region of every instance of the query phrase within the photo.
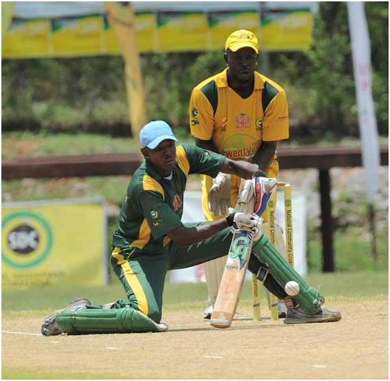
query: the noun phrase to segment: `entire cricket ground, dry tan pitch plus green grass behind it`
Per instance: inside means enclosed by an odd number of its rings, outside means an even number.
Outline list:
[[[387,379],[388,273],[304,278],[320,289],[328,308],[341,311],[341,321],[272,321],[265,293],[262,321],[252,321],[245,281],[232,327],[218,330],[202,319],[205,283],[166,283],[162,321],[168,332],[42,337],[40,324],[53,310],[81,296],[93,304],[125,298],[122,285],[2,290],[2,379]]]

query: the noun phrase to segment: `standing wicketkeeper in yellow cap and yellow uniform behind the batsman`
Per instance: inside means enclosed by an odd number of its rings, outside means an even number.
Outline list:
[[[257,164],[270,178],[278,176],[279,140],[289,137],[289,113],[285,91],[281,86],[257,73],[259,47],[255,34],[238,30],[226,40],[224,61],[227,68],[201,82],[192,90],[190,100],[190,128],[196,146],[220,153],[234,160]],[[210,200],[210,189],[219,193]],[[244,183],[234,174],[220,172],[216,179],[202,176],[203,213],[207,221],[224,218],[229,207],[235,207]],[[210,202],[211,201],[211,202]],[[263,215],[267,230],[267,213]],[[276,226],[276,246],[285,255],[285,244]],[[203,264],[209,289],[209,308],[205,318],[213,312],[218,289],[226,264],[226,257]],[[268,293],[268,301],[270,301]],[[278,304],[279,317],[286,308]]]

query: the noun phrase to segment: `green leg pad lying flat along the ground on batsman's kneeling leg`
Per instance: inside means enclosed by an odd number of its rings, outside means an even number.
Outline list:
[[[94,309],[59,313],[56,321],[67,334],[163,332],[165,324],[152,319],[131,307]]]

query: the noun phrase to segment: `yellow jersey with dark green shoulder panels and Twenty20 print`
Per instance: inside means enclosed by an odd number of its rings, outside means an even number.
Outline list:
[[[227,70],[192,91],[191,134],[211,140],[229,159],[252,161],[261,142],[289,137],[287,98],[281,86],[255,72],[252,95],[243,99],[229,88]]]

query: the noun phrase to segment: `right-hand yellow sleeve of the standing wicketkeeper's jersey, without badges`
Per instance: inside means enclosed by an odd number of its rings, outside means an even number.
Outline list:
[[[288,139],[289,137],[289,110],[287,97],[282,90],[265,109],[262,129],[264,142]]]

